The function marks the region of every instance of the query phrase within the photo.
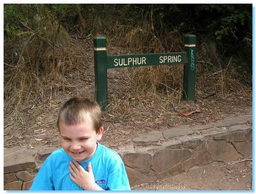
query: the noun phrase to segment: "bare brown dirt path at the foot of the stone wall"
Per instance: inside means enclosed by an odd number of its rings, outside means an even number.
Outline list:
[[[221,165],[213,162],[168,179],[135,185],[132,190],[251,190],[251,161]]]

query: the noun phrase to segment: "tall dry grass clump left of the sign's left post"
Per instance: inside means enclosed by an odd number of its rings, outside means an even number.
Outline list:
[[[52,29],[52,31],[54,31]],[[32,38],[25,39],[20,47],[21,53],[11,66],[4,71],[4,113],[15,120],[26,120],[23,111],[31,108],[31,104],[40,104],[51,100],[65,85],[69,85],[69,72],[83,65],[72,48],[71,38],[61,28],[54,40],[54,45],[47,38],[53,35],[52,31],[43,37],[33,34]],[[27,38],[27,37],[26,37]],[[10,48],[10,43],[5,48]],[[8,57],[5,58],[6,63]],[[61,60],[59,70],[56,68]],[[10,60],[9,60],[10,62]],[[8,63],[9,63],[8,62]],[[8,64],[7,63],[7,64]],[[6,121],[6,120],[5,120]]]

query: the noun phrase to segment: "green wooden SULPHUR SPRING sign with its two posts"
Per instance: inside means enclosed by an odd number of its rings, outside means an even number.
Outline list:
[[[106,38],[94,38],[95,95],[101,110],[108,106],[107,69],[184,64],[183,98],[195,100],[196,36],[185,35],[185,52],[106,55]]]

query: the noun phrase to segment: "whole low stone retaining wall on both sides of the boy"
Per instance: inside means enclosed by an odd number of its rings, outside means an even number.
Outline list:
[[[122,157],[131,185],[154,181],[213,161],[252,154],[252,115],[206,125],[182,125],[132,140],[101,142]],[[4,190],[27,190],[42,162],[58,147],[4,148]]]

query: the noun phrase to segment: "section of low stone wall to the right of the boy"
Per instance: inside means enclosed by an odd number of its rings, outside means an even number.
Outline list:
[[[143,134],[122,144],[131,185],[175,176],[213,161],[228,162],[252,154],[252,116],[237,116],[206,125],[182,125]],[[153,135],[154,134],[154,135]]]

